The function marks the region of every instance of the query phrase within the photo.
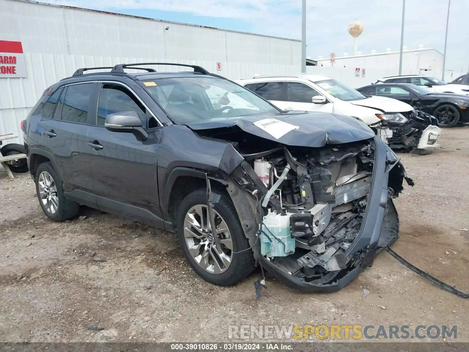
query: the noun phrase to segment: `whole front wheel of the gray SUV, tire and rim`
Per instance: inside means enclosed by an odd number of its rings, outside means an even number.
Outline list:
[[[249,275],[255,262],[233,204],[224,193],[218,195],[220,199],[214,204],[213,213],[219,247],[208,218],[206,189],[193,191],[182,201],[177,235],[194,271],[209,283],[228,286]]]

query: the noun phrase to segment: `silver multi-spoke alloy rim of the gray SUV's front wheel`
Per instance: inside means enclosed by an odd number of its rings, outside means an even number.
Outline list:
[[[184,237],[197,264],[209,273],[220,274],[227,270],[233,259],[233,241],[226,222],[213,210],[217,247],[207,214],[205,205],[191,207],[184,218]]]

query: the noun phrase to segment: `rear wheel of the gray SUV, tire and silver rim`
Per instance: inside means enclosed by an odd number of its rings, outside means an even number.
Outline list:
[[[36,194],[44,214],[52,221],[64,221],[74,217],[78,213],[80,205],[65,198],[62,182],[57,176],[50,161],[39,165],[36,171]],[[50,183],[44,191],[43,185]],[[47,195],[50,195],[47,200]],[[44,198],[43,198],[44,197]],[[52,204],[52,208],[51,208]]]

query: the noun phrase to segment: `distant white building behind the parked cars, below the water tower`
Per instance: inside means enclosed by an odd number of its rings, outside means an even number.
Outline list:
[[[337,66],[360,69],[386,69],[395,70],[395,75],[399,72],[399,51],[386,49],[384,53],[377,53],[372,50],[369,54],[358,52],[357,55],[336,57],[332,64],[330,58],[319,57],[318,66]],[[419,46],[417,49],[407,49],[404,47],[402,53],[402,74],[403,75],[429,75],[441,78],[443,70],[443,54],[433,48]]]

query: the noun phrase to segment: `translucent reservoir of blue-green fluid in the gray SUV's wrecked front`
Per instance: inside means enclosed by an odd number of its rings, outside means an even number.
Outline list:
[[[290,236],[291,214],[277,214],[276,212],[272,213],[270,209],[268,210],[267,215],[263,219],[264,224],[261,225],[260,242],[262,255],[268,257],[286,257],[289,254],[295,253],[295,238]],[[282,245],[282,242],[285,247]]]

